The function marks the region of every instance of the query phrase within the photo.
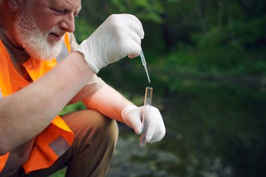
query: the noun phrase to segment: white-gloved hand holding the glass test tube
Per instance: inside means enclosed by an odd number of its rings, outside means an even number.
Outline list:
[[[141,116],[144,106],[137,107],[134,105],[127,106],[122,112],[122,118],[125,124],[134,129],[136,134],[141,134]],[[151,106],[148,116],[148,129],[146,140],[149,143],[160,141],[165,136],[165,124],[158,108]]]

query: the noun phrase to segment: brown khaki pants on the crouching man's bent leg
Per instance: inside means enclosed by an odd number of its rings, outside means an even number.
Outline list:
[[[25,175],[21,167],[6,176],[50,176],[64,167],[67,167],[67,177],[106,175],[118,139],[116,121],[92,110],[69,113],[61,117],[75,134],[71,148],[48,169]]]

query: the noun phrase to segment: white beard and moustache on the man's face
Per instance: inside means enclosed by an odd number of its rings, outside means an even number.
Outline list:
[[[48,43],[48,34],[59,31],[58,27],[53,27],[43,34],[30,12],[30,9],[25,8],[22,15],[15,21],[15,33],[18,43],[34,59],[52,59],[57,57],[61,52],[63,38],[58,42]]]

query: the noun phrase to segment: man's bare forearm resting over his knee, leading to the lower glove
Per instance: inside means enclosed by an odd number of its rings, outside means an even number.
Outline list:
[[[87,108],[95,109],[107,117],[120,122],[123,122],[121,117],[123,109],[132,104],[132,102],[107,84],[91,97],[84,99],[83,103]]]

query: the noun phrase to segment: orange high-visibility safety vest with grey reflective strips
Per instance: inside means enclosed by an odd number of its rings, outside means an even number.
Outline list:
[[[64,44],[62,52],[67,54],[61,53],[59,57],[62,55],[65,57],[71,51],[69,34],[64,36]],[[49,61],[29,58],[23,66],[27,69],[31,79],[35,81],[55,67],[59,57]],[[8,52],[0,40],[0,88],[3,97],[17,92],[27,85],[29,82],[15,71]],[[50,125],[36,137],[29,160],[22,165],[25,173],[29,174],[31,171],[50,167],[71,146],[73,139],[73,132],[66,125],[66,122],[57,115]],[[9,153],[0,156],[0,173],[5,167],[8,155]]]

